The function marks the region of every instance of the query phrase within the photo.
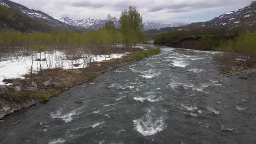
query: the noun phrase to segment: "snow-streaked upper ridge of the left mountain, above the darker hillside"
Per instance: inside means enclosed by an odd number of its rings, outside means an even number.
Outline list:
[[[0,4],[4,7],[14,7],[24,13],[26,16],[30,17],[33,20],[43,21],[47,23],[53,23],[61,26],[68,26],[66,23],[62,23],[59,20],[54,19],[46,13],[43,13],[39,10],[33,10],[28,7],[25,7],[19,3],[14,3],[10,0],[0,0]]]

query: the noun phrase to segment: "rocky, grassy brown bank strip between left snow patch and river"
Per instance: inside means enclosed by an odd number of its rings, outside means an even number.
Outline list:
[[[160,52],[160,49],[136,49],[128,56],[102,62],[92,62],[83,69],[47,69],[37,74],[24,75],[26,79],[6,79],[13,85],[0,86],[0,119],[16,111],[47,102],[65,90],[98,75]],[[79,103],[79,101],[76,101]]]

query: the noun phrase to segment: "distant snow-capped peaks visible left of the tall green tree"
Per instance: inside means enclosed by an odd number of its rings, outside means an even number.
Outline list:
[[[61,21],[62,23],[66,23],[69,24],[71,26],[78,26],[78,27],[84,27],[84,28],[88,28],[88,29],[98,29],[99,27],[103,27],[105,24],[106,20],[94,20],[91,18],[87,18],[84,20],[75,20],[73,18],[70,17],[61,17],[61,18],[57,18],[57,20]],[[118,26],[118,19],[114,18],[113,19],[114,23],[116,26]]]

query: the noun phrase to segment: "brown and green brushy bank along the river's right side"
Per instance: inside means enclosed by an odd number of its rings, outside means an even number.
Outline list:
[[[255,68],[256,33],[253,26],[233,28],[194,28],[160,33],[154,44],[184,49],[222,51],[213,58],[223,72],[239,75]]]

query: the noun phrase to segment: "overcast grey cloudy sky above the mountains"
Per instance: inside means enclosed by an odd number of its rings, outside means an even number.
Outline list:
[[[211,20],[223,13],[243,8],[252,0],[12,0],[53,17],[69,16],[105,19],[119,17],[130,5],[138,8],[144,21],[191,23]]]

